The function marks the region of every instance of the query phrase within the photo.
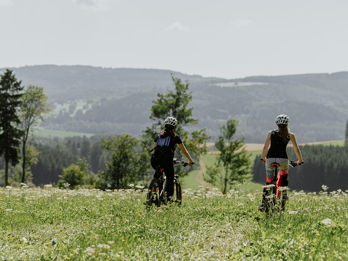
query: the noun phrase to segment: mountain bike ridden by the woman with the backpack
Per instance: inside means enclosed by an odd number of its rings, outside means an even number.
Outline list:
[[[186,161],[176,161],[176,158],[173,159],[174,168],[177,166],[188,166],[188,162]],[[194,164],[194,163],[193,163]],[[157,172],[157,173],[156,173]],[[154,178],[151,180],[149,185],[149,190],[146,197],[146,203],[144,203],[149,209],[149,207],[154,204],[159,207],[160,205],[166,205],[170,200],[166,197],[166,192],[164,192],[166,176],[163,169],[158,166],[158,169],[153,174]],[[159,177],[159,178],[156,178]],[[181,184],[177,180],[179,176],[177,174],[174,175],[174,185],[175,185],[175,199],[172,200],[175,204],[181,205],[182,197],[181,197]]]

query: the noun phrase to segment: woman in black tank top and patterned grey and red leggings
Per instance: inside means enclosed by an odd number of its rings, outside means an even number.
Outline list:
[[[296,142],[295,135],[290,132],[290,129],[287,127],[290,119],[285,114],[280,114],[276,118],[276,125],[278,126],[278,129],[271,130],[268,132],[268,135],[266,137],[266,141],[264,143],[264,147],[262,150],[262,160],[263,162],[266,162],[266,175],[267,175],[267,181],[266,185],[269,185],[272,180],[274,180],[274,171],[275,166],[272,166],[272,164],[279,165],[280,169],[280,186],[281,187],[287,187],[288,185],[288,169],[289,169],[289,160],[287,158],[286,154],[286,146],[289,141],[292,142],[292,146],[294,148],[294,151],[296,153],[296,156],[298,158],[297,165],[302,165],[303,160],[301,156],[301,151],[299,149],[299,146]],[[271,145],[270,145],[271,144]],[[270,148],[268,150],[268,147],[270,145]],[[266,152],[268,150],[267,156]],[[262,195],[262,202],[259,205],[259,210],[263,211],[266,207],[266,192],[267,189],[263,189],[263,195]],[[283,200],[288,200],[289,196],[286,193],[286,190],[283,192]]]

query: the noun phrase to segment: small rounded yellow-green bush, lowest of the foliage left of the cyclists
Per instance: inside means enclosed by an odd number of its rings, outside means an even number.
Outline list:
[[[63,187],[64,183],[69,183],[70,188],[74,189],[85,185],[89,168],[85,158],[79,159],[76,164],[63,169],[63,174],[59,175],[61,179],[58,181],[58,186]]]

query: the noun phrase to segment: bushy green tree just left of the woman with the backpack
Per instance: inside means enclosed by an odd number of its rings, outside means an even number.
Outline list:
[[[100,147],[110,153],[110,161],[106,163],[106,168],[98,173],[105,188],[127,188],[129,183],[137,181],[139,178],[139,172],[135,171],[135,166],[139,162],[135,152],[137,143],[137,140],[129,134],[102,140]]]

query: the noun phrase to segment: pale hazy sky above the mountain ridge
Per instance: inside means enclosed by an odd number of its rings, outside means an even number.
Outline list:
[[[0,0],[0,68],[91,65],[204,77],[348,70],[346,0]]]

